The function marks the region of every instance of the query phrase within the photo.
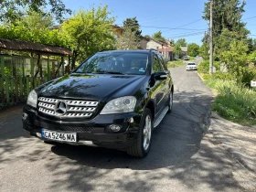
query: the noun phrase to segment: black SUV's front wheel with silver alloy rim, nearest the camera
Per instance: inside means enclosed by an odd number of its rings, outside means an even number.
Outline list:
[[[128,148],[127,154],[141,158],[148,155],[151,146],[152,131],[152,113],[146,108],[137,133],[137,139],[133,146]]]

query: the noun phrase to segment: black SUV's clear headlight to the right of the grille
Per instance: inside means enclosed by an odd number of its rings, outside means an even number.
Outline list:
[[[109,101],[101,114],[133,112],[136,104],[136,98],[133,96],[125,96]]]

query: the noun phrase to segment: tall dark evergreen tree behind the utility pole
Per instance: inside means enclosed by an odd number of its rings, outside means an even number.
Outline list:
[[[205,4],[204,16],[209,21],[209,5],[210,1]],[[240,0],[215,0],[213,4],[213,48],[215,51],[214,59],[219,60],[219,54],[229,48],[229,42],[232,40],[247,39],[250,33],[245,28],[245,23],[241,21],[244,12],[245,1]],[[208,36],[208,35],[207,35]],[[204,43],[208,43],[206,37]],[[224,41],[223,41],[224,40]],[[248,49],[249,51],[250,49]]]

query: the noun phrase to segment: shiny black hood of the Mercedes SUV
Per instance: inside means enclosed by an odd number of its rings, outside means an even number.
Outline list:
[[[130,95],[145,76],[93,74],[65,75],[44,87],[39,96],[91,101],[111,100]]]

